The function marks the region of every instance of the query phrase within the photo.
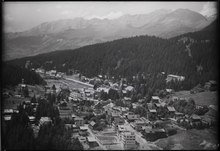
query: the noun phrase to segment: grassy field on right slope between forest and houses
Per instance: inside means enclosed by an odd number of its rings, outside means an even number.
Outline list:
[[[193,98],[197,105],[217,105],[218,104],[218,94],[217,92],[205,91],[195,94],[190,94],[190,91],[179,91],[172,94],[172,96],[182,97],[182,98]]]

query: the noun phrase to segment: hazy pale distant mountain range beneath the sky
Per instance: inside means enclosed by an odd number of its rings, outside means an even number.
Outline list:
[[[10,60],[136,35],[170,38],[198,31],[210,23],[201,14],[187,9],[157,10],[149,14],[124,15],[113,20],[58,20],[24,32],[6,34],[3,55],[5,60]]]

